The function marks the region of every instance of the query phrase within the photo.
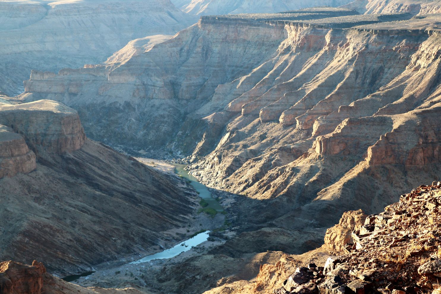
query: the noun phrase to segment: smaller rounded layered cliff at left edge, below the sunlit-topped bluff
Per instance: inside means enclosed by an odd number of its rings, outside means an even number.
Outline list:
[[[29,150],[23,136],[0,125],[0,179],[27,174],[36,167],[35,153]]]

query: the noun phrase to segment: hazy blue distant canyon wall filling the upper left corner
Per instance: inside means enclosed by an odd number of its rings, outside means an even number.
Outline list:
[[[32,69],[100,63],[133,39],[195,22],[169,0],[0,1],[0,90],[20,93]]]

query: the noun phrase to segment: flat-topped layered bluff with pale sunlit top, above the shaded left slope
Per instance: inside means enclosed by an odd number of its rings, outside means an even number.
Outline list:
[[[50,100],[0,104],[0,123],[23,134],[35,152],[72,152],[86,140],[78,113]]]

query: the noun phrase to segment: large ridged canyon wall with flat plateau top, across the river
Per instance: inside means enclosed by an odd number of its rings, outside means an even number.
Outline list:
[[[253,200],[244,220],[328,227],[439,173],[439,15],[357,14],[204,16],[118,67],[34,72],[20,98],[77,109],[92,138],[190,156]]]

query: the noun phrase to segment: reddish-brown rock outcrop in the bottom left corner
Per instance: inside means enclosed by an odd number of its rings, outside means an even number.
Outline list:
[[[133,288],[93,289],[67,283],[46,273],[41,262],[32,265],[14,261],[0,263],[0,291],[2,294],[142,294]]]

